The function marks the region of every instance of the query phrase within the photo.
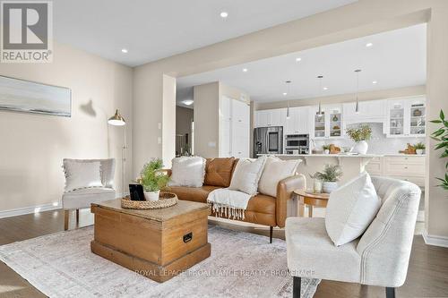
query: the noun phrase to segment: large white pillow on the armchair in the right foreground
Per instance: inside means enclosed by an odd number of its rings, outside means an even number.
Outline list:
[[[381,199],[366,172],[330,194],[325,227],[336,246],[357,239],[381,207]]]

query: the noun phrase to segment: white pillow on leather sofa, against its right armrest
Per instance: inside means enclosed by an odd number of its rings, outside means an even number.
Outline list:
[[[268,157],[258,183],[258,192],[277,197],[277,185],[281,180],[294,175],[301,161],[300,159],[281,160],[276,157]]]

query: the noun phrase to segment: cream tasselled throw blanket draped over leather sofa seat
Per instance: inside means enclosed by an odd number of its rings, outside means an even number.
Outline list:
[[[245,219],[247,204],[252,196],[245,192],[221,188],[209,193],[207,202],[218,217]]]

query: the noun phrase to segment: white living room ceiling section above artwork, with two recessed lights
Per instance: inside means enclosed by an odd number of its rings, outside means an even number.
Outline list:
[[[58,0],[53,28],[59,42],[135,66],[353,2]],[[227,19],[220,18],[222,11]]]

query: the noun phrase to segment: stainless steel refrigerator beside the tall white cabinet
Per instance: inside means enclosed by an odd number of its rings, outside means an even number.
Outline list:
[[[254,129],[254,158],[258,154],[283,153],[283,126],[258,127]]]

